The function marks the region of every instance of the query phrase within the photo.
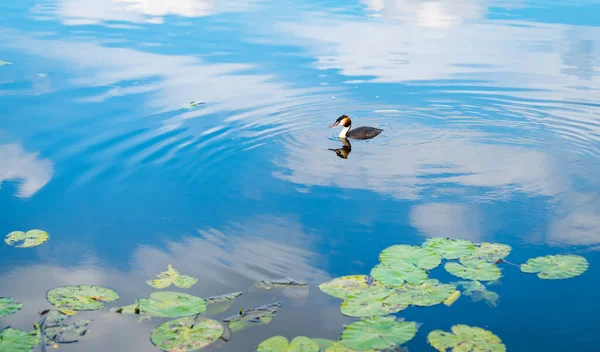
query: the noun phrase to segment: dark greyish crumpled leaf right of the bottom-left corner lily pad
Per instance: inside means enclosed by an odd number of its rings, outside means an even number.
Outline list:
[[[74,321],[69,315],[51,310],[44,318],[42,328],[48,340],[56,343],[72,343],[85,335],[91,322],[91,320]]]

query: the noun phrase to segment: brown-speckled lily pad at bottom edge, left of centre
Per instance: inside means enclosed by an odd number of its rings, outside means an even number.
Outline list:
[[[223,331],[223,325],[216,320],[184,317],[152,330],[152,343],[163,351],[196,351],[218,340]]]

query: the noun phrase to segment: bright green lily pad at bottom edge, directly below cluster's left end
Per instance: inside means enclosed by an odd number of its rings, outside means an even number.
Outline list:
[[[385,350],[412,340],[416,333],[417,325],[413,322],[396,321],[394,317],[377,317],[346,326],[341,342],[358,351]]]

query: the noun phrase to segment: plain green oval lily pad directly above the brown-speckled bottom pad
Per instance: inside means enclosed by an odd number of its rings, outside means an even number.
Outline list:
[[[161,291],[150,294],[150,298],[136,300],[139,314],[152,317],[185,317],[206,310],[206,302],[196,296],[182,292]]]

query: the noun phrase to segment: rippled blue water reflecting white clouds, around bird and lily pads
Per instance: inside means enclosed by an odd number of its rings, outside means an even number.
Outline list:
[[[97,284],[130,304],[172,264],[206,297],[283,302],[271,324],[206,351],[282,334],[338,339],[354,319],[316,285],[368,274],[381,250],[428,236],[509,244],[523,263],[579,254],[540,280],[503,265],[498,307],[461,297],[398,315],[481,326],[509,351],[597,351],[600,4],[559,1],[29,0],[0,4],[0,319],[30,329],[48,289]],[[182,105],[205,102],[193,109]],[[380,127],[353,141],[338,130]],[[308,296],[247,292],[292,277]],[[443,269],[433,277],[454,281]],[[108,309],[61,351],[157,351],[164,321]]]

